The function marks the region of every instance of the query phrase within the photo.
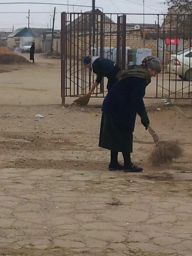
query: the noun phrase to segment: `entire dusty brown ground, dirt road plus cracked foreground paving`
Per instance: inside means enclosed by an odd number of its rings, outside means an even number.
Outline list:
[[[152,127],[184,155],[148,166],[153,141],[137,119],[132,158],[144,172],[109,172],[100,108],[63,108],[60,61],[36,61],[0,74],[0,255],[191,256],[191,119],[148,100]]]

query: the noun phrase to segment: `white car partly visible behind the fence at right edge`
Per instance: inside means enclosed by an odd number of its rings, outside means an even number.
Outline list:
[[[167,71],[178,75],[182,80],[192,81],[192,47],[171,54]]]

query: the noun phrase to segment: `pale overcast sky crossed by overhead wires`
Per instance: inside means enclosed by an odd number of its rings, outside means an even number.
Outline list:
[[[166,13],[167,6],[163,0],[144,0],[145,13]],[[67,4],[67,0],[0,0],[0,3],[8,2],[37,2],[37,3],[62,3]],[[92,5],[92,0],[68,0],[69,4],[82,5],[82,7],[70,7],[69,12],[86,12],[91,8],[83,7],[83,5]],[[56,29],[60,29],[61,12],[67,12],[67,6],[56,6]],[[96,6],[102,7],[104,13],[143,13],[143,0],[96,0]],[[26,27],[28,24],[28,10],[30,9],[30,27],[33,28],[50,28],[50,15],[53,14],[54,5],[45,4],[0,4],[0,30]],[[7,13],[7,12],[26,12],[26,13]],[[50,12],[50,13],[33,13],[33,12]],[[112,19],[115,19],[115,16]],[[163,16],[160,16],[161,22]],[[146,23],[155,23],[157,16],[146,16]],[[127,15],[128,23],[142,23],[143,16]]]

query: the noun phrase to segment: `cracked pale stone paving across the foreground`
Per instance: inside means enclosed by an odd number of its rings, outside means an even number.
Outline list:
[[[192,173],[7,168],[0,174],[0,248],[192,255]]]

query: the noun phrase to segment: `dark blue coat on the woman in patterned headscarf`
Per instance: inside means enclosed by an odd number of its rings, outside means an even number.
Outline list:
[[[146,79],[140,77],[117,81],[104,99],[103,113],[127,130],[134,131],[136,114],[145,111],[143,97],[146,86]]]

